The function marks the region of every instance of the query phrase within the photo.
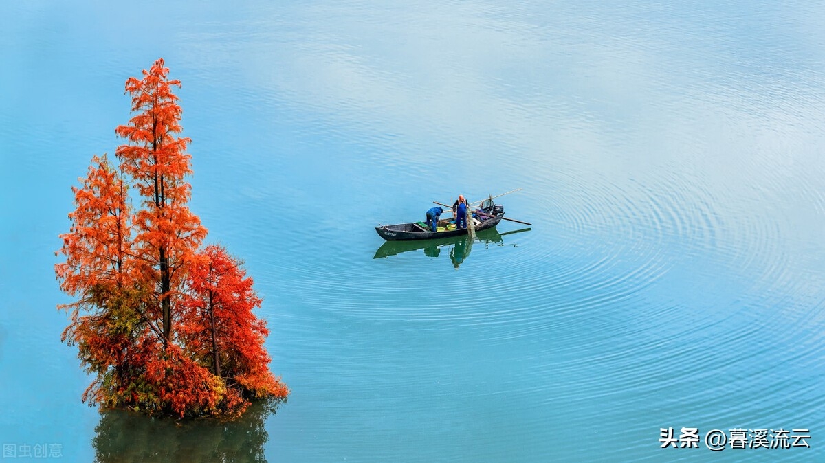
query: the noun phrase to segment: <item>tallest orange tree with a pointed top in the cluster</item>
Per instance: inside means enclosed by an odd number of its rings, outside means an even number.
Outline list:
[[[134,179],[144,198],[144,207],[134,218],[135,249],[141,278],[156,287],[153,307],[162,325],[164,346],[172,342],[175,301],[186,262],[206,236],[200,219],[187,206],[191,185],[185,177],[191,174],[191,156],[186,145],[190,139],[177,137],[181,106],[172,87],[180,87],[181,82],[169,80],[168,73],[160,58],[144,70],[143,79],[126,81],[132,110],[138,114],[115,129],[129,141],[115,151],[120,168]]]

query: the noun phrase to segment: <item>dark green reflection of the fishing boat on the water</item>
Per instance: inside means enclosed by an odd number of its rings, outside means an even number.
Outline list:
[[[475,240],[470,240],[469,236],[454,236],[452,238],[443,238],[439,240],[422,240],[422,241],[386,241],[375,251],[373,259],[386,258],[390,255],[399,255],[405,252],[415,252],[423,250],[427,257],[438,257],[441,255],[441,250],[449,248],[447,251],[450,255],[450,261],[453,266],[458,269],[464,260],[467,259],[471,250],[473,250],[474,243],[483,243],[489,245],[491,243],[504,242],[503,236],[512,235],[513,233],[529,232],[530,228],[522,228],[521,230],[514,230],[512,232],[499,233],[495,228],[483,230],[478,232]]]

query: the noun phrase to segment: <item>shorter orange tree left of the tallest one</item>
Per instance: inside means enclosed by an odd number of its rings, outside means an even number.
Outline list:
[[[95,381],[83,395],[111,401],[109,391],[128,381],[129,347],[144,325],[134,255],[127,188],[106,155],[92,157],[82,186],[73,187],[72,226],[60,236],[66,261],[54,266],[60,288],[78,300],[59,306],[72,322],[63,340],[78,344],[78,357]]]

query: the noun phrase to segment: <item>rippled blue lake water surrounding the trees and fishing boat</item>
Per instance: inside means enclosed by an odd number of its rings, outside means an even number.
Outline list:
[[[0,6],[4,451],[825,459],[822,2],[175,3]],[[264,298],[274,414],[101,414],[59,340],[70,187],[159,57],[191,208]],[[519,187],[501,203],[529,231],[373,230]],[[662,450],[668,427],[811,448]]]

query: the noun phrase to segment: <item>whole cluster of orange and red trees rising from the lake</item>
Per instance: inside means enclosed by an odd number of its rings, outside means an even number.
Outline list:
[[[126,92],[135,115],[115,132],[115,166],[93,157],[55,265],[76,301],[64,340],[94,381],[90,404],[177,416],[235,415],[249,400],[282,398],[269,371],[268,333],[252,314],[261,305],[241,263],[201,245],[206,229],[188,207],[189,138],[181,106],[158,59]],[[133,207],[129,189],[136,190]]]

